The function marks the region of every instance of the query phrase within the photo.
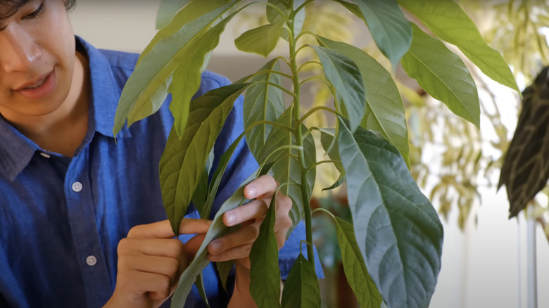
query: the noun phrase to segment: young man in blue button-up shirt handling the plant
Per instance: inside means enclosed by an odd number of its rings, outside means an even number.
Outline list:
[[[158,180],[172,126],[168,103],[124,127],[115,143],[115,108],[137,55],[99,51],[75,37],[73,4],[0,0],[0,307],[169,305],[210,221],[189,210],[179,230],[185,244],[172,238]],[[198,95],[225,84],[205,72]],[[241,103],[215,143],[214,166],[242,131]],[[257,167],[244,143],[236,153],[214,212]],[[272,177],[260,177],[245,189],[255,200],[225,213],[225,224],[241,229],[210,243],[208,258],[236,259],[236,283],[228,298],[215,267],[206,267],[213,307],[253,307],[248,253],[276,188]],[[302,225],[285,238],[290,207],[277,196],[283,277],[304,238]],[[200,304],[194,290],[187,307]]]

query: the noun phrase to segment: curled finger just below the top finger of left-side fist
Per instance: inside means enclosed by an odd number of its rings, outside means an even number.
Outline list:
[[[118,243],[118,255],[151,255],[179,258],[184,255],[184,245],[171,238],[122,238]]]

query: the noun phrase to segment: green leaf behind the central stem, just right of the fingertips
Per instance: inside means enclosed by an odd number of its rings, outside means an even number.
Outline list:
[[[286,110],[281,117],[277,120],[278,123],[285,125],[286,127],[294,127],[294,117],[292,113],[293,108]],[[303,125],[302,130],[306,131],[306,127]],[[265,148],[263,148],[263,155],[261,162],[267,160],[267,164],[273,163],[272,173],[274,179],[279,183],[289,184],[301,184],[306,186],[306,191],[310,197],[313,186],[315,185],[316,168],[313,167],[307,172],[307,183],[301,183],[301,163],[298,160],[298,151],[295,148],[288,148],[289,146],[296,146],[296,139],[294,134],[281,127],[274,127],[267,142],[265,142]],[[285,148],[284,148],[285,147]],[[284,150],[281,150],[284,148]],[[305,152],[305,165],[313,166],[316,163],[316,147],[315,140],[310,134],[303,140],[303,150]],[[274,154],[272,154],[274,153]],[[271,155],[272,154],[272,155]],[[297,185],[287,185],[280,189],[284,195],[287,195],[294,201],[294,205],[290,210],[290,218],[293,222],[292,229],[303,218],[304,205],[309,204],[309,200],[303,200],[301,195],[301,188]]]

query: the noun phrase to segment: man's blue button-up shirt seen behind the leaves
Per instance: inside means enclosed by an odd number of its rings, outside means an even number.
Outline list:
[[[76,41],[89,60],[92,96],[87,135],[72,158],[40,148],[0,116],[0,307],[101,307],[115,287],[119,240],[133,226],[166,219],[158,162],[173,121],[168,103],[122,128],[115,143],[116,105],[138,55]],[[197,94],[227,83],[204,72]],[[239,98],[215,143],[217,160],[243,129],[241,108]],[[235,153],[213,212],[257,167],[244,143]],[[298,225],[280,251],[283,277],[304,234]],[[215,267],[204,274],[210,304],[226,306]],[[186,307],[203,307],[196,290]]]

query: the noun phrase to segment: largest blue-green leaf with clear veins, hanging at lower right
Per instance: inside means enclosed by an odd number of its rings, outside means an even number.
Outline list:
[[[353,134],[339,117],[358,248],[389,307],[429,306],[441,269],[443,229],[398,150],[379,134]]]

